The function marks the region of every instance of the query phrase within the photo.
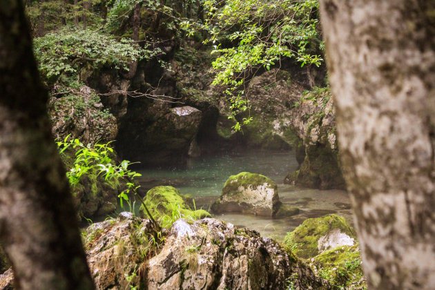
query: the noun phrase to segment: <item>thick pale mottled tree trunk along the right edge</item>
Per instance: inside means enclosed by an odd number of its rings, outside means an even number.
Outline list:
[[[329,79],[372,289],[435,287],[435,1],[322,0]]]

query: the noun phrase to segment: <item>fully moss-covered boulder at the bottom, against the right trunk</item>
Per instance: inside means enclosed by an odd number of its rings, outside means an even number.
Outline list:
[[[367,289],[358,244],[316,255],[309,266],[316,275],[328,280],[334,289]]]

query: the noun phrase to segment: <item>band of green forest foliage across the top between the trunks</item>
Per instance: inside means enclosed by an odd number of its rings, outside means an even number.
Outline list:
[[[193,39],[209,47],[212,84],[226,88],[236,129],[236,116],[250,106],[247,80],[280,68],[282,59],[300,66],[323,61],[316,0],[47,0],[29,1],[27,12],[50,86],[77,87],[79,71],[89,65],[128,71],[132,61],[157,59],[171,69],[163,60],[168,41]]]

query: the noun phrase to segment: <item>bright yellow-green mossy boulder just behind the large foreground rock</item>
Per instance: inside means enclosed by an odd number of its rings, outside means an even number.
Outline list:
[[[146,193],[144,203],[150,211],[153,218],[160,220],[163,226],[170,226],[172,222],[179,218],[198,220],[200,218],[210,217],[210,213],[202,209],[191,209],[189,203],[191,198],[184,197],[173,186],[156,186]],[[142,205],[140,207],[142,218],[148,218],[148,215]]]

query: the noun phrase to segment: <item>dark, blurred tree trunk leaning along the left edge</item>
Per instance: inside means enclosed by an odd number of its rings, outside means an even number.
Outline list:
[[[0,243],[18,289],[93,289],[21,0],[0,6]]]

